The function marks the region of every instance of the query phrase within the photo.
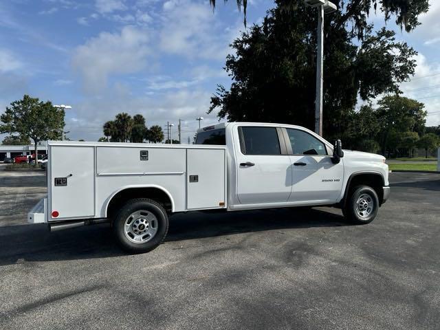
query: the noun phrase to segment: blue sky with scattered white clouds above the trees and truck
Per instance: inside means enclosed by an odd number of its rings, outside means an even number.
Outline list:
[[[273,5],[249,1],[248,24]],[[416,76],[402,89],[426,102],[432,125],[440,124],[438,17],[440,3],[432,1],[415,32],[396,29],[419,51]],[[382,14],[371,19],[382,25]],[[1,1],[0,112],[27,93],[72,105],[66,116],[72,140],[98,140],[103,122],[126,111],[142,113],[148,126],[181,118],[186,141],[197,116],[206,118],[203,124],[217,122],[206,110],[216,85],[230,84],[222,67],[243,29],[232,0],[218,1],[214,11],[200,0]]]

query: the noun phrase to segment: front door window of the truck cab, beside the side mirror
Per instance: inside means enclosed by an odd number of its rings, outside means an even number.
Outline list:
[[[298,129],[287,129],[294,155],[327,155],[325,144],[313,135]]]

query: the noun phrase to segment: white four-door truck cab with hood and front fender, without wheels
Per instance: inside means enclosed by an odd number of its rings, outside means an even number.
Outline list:
[[[196,144],[225,144],[228,208],[341,205],[349,182],[369,184],[388,198],[385,157],[344,151],[301,126],[230,122],[199,129]]]

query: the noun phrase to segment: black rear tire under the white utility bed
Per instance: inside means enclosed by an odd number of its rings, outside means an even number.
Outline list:
[[[138,219],[141,219],[141,222],[147,222],[147,225],[144,225],[142,230],[145,230],[145,228],[147,228],[148,230],[153,230],[153,228],[155,228],[154,226],[156,226],[154,234],[149,234],[148,231],[144,234],[144,236],[142,236],[142,234],[134,234],[133,226],[135,226],[135,223],[133,221],[137,220],[135,219],[135,217],[137,216],[132,217],[132,222],[129,222],[129,225],[131,225],[131,230],[129,233],[126,234],[125,221],[130,221],[128,218],[132,216],[135,212],[140,212],[141,215],[139,215],[140,218]],[[148,228],[148,225],[151,226],[151,229]],[[140,228],[141,227],[139,225],[134,230],[139,230]],[[137,232],[141,233],[140,231]],[[153,201],[153,199],[131,199],[124,206],[122,206],[118,214],[113,219],[113,234],[116,241],[123,250],[131,253],[149,252],[157,248],[157,246],[164,241],[167,232],[168,214],[166,214],[166,210],[164,209],[164,207],[160,203],[157,203],[157,201]],[[148,236],[148,234],[150,236]],[[129,237],[131,237],[131,239],[129,239]],[[146,239],[148,241],[140,241],[138,243],[135,243],[133,241],[135,237],[142,240]]]

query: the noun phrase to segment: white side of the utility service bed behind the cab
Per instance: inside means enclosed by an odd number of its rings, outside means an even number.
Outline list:
[[[224,146],[48,142],[48,148],[49,222],[107,217],[109,201],[127,188],[159,188],[172,212],[227,207]],[[148,159],[140,160],[141,151]],[[56,178],[67,184],[56,186]]]

